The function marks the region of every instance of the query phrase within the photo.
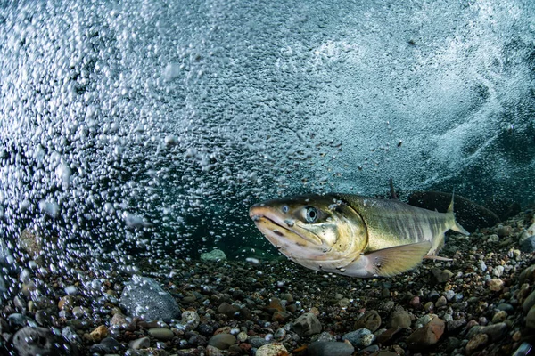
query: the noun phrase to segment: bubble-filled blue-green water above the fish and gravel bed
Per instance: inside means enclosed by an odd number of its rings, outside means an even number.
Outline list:
[[[2,2],[0,262],[243,259],[253,203],[391,177],[529,206],[534,38],[527,0]]]

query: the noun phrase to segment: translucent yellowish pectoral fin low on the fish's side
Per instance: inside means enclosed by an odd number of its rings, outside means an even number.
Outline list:
[[[361,258],[366,258],[365,268],[371,275],[391,277],[415,268],[422,262],[431,247],[431,242],[424,241],[383,248],[361,256]]]

